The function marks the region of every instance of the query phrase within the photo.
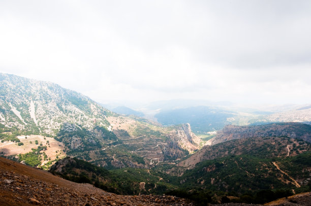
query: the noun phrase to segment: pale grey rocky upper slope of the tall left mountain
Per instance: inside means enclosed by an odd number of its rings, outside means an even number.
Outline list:
[[[108,129],[112,113],[88,97],[50,82],[0,74],[0,123],[12,131],[57,135],[65,122]],[[36,133],[35,133],[36,132]]]

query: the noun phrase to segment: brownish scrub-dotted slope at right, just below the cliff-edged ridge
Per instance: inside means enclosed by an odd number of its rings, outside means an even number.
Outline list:
[[[242,138],[213,146],[205,146],[189,158],[180,161],[177,166],[193,168],[203,160],[212,160],[232,155],[254,155],[260,158],[295,156],[311,151],[311,145],[302,140],[287,137]]]

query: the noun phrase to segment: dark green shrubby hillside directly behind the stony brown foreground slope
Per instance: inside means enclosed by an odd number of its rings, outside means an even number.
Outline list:
[[[90,183],[105,191],[123,195],[163,194],[177,187],[169,180],[149,169],[107,170],[86,161],[66,157],[57,161],[50,170],[52,174],[78,183]]]

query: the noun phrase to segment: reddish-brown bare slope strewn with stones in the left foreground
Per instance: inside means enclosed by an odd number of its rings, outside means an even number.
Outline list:
[[[0,205],[193,205],[174,196],[125,196],[0,157]]]

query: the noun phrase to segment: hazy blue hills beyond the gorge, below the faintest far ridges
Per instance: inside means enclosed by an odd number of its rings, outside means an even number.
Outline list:
[[[197,106],[164,110],[154,115],[163,125],[190,123],[198,134],[219,130],[225,125],[262,125],[272,122],[309,122],[311,109],[298,108],[280,113],[271,113],[247,108]]]

